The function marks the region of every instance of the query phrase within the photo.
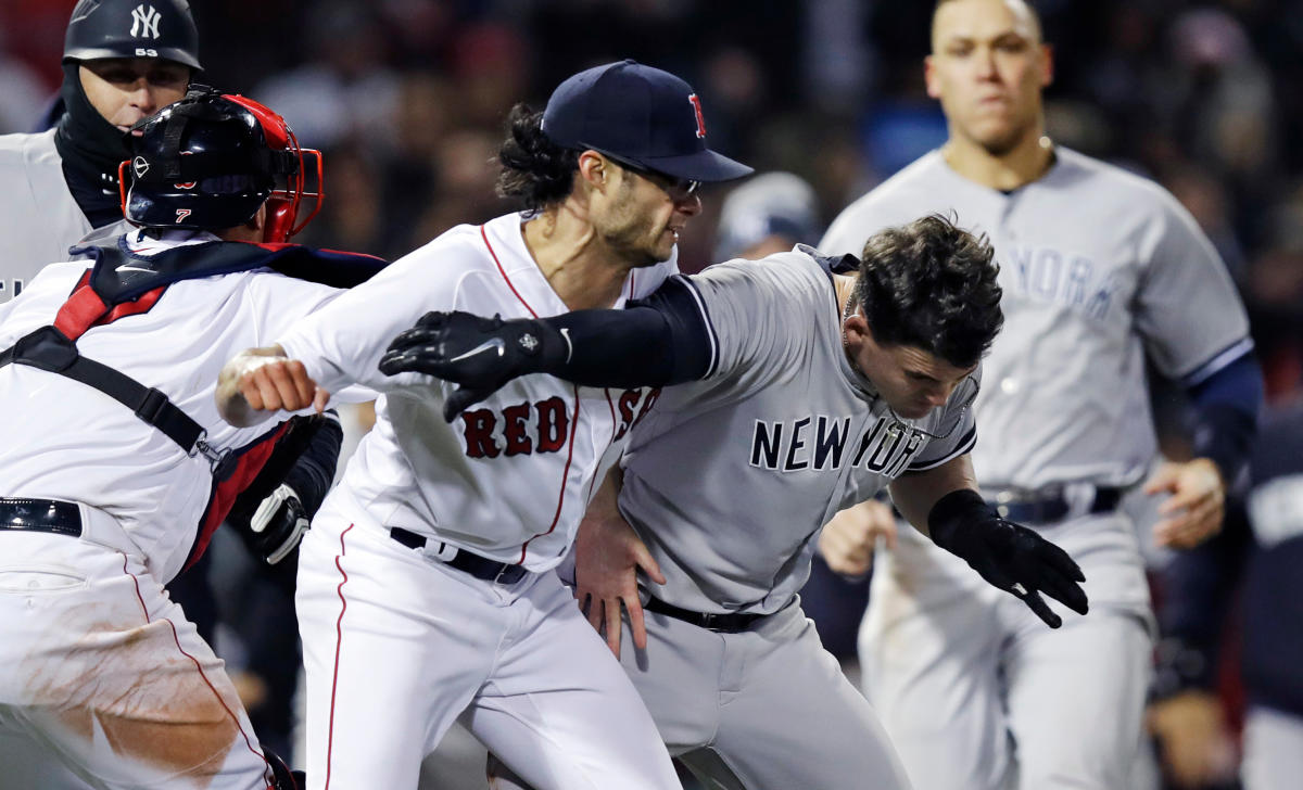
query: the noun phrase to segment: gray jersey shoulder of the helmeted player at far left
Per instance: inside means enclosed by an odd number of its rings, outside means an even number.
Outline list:
[[[0,302],[90,233],[64,181],[55,131],[0,135]]]

